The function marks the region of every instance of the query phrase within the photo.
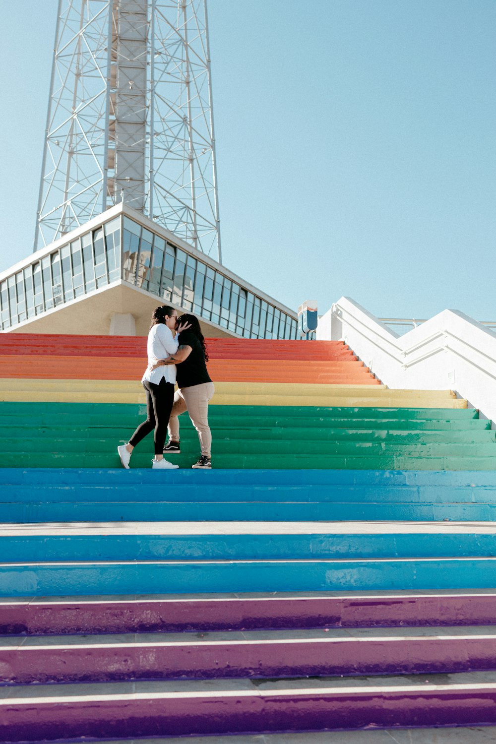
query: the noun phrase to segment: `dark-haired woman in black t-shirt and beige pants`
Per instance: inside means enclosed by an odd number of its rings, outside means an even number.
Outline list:
[[[181,333],[179,348],[168,359],[159,359],[158,365],[177,365],[178,391],[174,396],[173,410],[169,419],[169,441],[164,452],[173,455],[181,452],[179,444],[178,415],[187,411],[198,432],[201,455],[193,468],[211,468],[210,447],[212,434],[208,426],[208,401],[213,396],[213,382],[207,372],[207,349],[198,318],[185,313],[178,318],[178,324],[190,324],[190,328]]]

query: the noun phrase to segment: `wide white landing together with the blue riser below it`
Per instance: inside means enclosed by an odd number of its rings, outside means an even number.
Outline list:
[[[0,530],[5,562],[496,554],[496,522],[87,522]]]

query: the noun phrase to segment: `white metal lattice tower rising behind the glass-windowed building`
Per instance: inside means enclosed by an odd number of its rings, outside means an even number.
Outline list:
[[[59,0],[35,250],[121,201],[222,260],[207,0]]]

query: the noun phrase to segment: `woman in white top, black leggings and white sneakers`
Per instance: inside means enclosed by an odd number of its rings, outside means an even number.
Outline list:
[[[153,311],[147,343],[148,366],[141,379],[146,391],[146,420],[138,426],[127,444],[117,447],[120,462],[125,468],[129,468],[132,450],[153,430],[155,458],[152,460],[152,467],[154,469],[178,467],[165,460],[163,455],[167,424],[174,403],[175,366],[154,368],[158,359],[164,359],[178,350],[178,334],[189,327],[187,324],[179,326],[176,333],[177,319],[176,310],[169,305],[156,307]]]

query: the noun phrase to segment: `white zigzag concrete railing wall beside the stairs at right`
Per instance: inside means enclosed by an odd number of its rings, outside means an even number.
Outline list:
[[[342,297],[319,319],[317,338],[346,341],[390,388],[454,390],[496,420],[496,333],[463,312],[443,310],[399,336]]]

